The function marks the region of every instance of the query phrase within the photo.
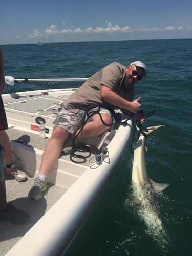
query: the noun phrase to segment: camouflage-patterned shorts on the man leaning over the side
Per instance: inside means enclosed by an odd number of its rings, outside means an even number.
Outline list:
[[[98,107],[91,109],[91,111],[98,110]],[[85,110],[79,110],[78,113],[73,113],[64,107],[59,111],[55,121],[53,122],[54,128],[56,126],[65,129],[71,134],[74,134],[80,127],[84,118],[84,114],[86,113]],[[89,112],[88,112],[89,113]],[[100,108],[100,114],[107,114],[112,117],[111,112],[108,109]],[[96,115],[96,114],[95,114]],[[113,123],[114,123],[114,118]],[[90,121],[88,117],[85,118],[85,121]]]

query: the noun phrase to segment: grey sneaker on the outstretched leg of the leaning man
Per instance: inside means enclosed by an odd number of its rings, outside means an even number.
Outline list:
[[[40,180],[38,176],[35,179],[35,182],[29,191],[28,197],[30,199],[39,200],[42,197],[42,192],[47,189],[47,180]]]

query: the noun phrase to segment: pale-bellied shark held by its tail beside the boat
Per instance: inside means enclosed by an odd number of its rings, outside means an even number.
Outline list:
[[[138,141],[133,146],[133,164],[132,164],[132,202],[137,206],[137,214],[144,222],[147,229],[145,232],[150,235],[163,251],[170,246],[167,230],[161,221],[160,205],[158,198],[162,191],[169,186],[167,183],[154,182],[147,173],[145,153],[145,139],[163,125],[150,126],[139,132]],[[130,200],[130,199],[129,199]]]

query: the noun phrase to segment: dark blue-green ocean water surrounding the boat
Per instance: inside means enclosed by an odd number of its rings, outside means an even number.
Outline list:
[[[192,255],[192,39],[2,45],[1,49],[5,75],[15,79],[85,78],[114,61],[146,63],[148,76],[136,85],[136,97],[141,96],[145,112],[156,110],[145,126],[164,125],[146,140],[147,171],[152,180],[170,185],[152,195],[153,202],[141,206],[134,201],[128,148],[66,255]],[[4,93],[57,86],[16,83],[6,86]],[[145,212],[149,205],[158,211],[158,219]]]

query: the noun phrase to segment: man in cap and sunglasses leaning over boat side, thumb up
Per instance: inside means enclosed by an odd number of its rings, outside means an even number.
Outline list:
[[[57,114],[54,130],[42,155],[39,174],[29,191],[29,198],[38,200],[47,189],[47,175],[53,168],[70,135],[78,139],[98,136],[113,125],[113,110],[121,109],[143,123],[145,116],[137,113],[140,97],[135,96],[135,84],[147,75],[146,66],[135,61],[129,66],[113,62],[96,72],[82,84],[65,102]],[[99,107],[99,109],[98,109]],[[81,130],[82,120],[89,109],[98,113],[91,116]]]

